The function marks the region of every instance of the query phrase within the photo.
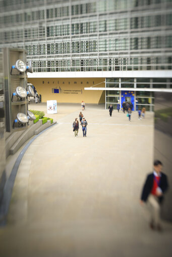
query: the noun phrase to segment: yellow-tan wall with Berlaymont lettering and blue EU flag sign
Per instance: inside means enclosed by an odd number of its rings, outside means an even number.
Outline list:
[[[105,78],[28,78],[38,94],[41,95],[42,102],[56,100],[59,103],[81,103],[101,104],[105,103],[103,91],[85,91],[85,87],[92,87]],[[97,87],[105,87],[105,83],[100,83]],[[54,94],[53,89],[59,89],[59,94]]]

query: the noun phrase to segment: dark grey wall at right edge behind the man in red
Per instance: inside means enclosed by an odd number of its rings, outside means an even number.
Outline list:
[[[163,219],[172,222],[172,127],[171,117],[166,120],[158,118],[159,111],[171,109],[172,93],[155,93],[155,129],[154,129],[154,159],[159,159],[163,164],[163,172],[168,177],[169,189],[165,194],[162,205],[161,216]],[[166,113],[167,111],[163,111]]]

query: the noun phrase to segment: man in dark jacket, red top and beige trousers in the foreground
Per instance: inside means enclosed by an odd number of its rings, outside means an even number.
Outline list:
[[[160,204],[163,200],[163,195],[168,188],[167,177],[162,170],[162,163],[160,160],[154,161],[153,173],[147,176],[144,184],[140,203],[143,205],[147,202],[151,207],[151,229],[157,228],[162,230],[160,225]]]

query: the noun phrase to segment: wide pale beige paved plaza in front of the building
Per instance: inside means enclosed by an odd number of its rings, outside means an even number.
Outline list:
[[[14,184],[7,225],[0,229],[2,257],[171,256],[172,225],[151,231],[139,204],[153,163],[153,113],[138,120],[104,105],[86,105],[87,137],[72,123],[80,104],[29,109],[57,122],[28,147]],[[18,151],[21,152],[22,149]],[[15,157],[17,157],[17,154]],[[8,168],[14,156],[8,158]]]

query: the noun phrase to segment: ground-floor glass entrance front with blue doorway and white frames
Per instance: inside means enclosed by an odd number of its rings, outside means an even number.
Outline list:
[[[142,109],[143,107],[145,107],[147,111],[153,111],[153,89],[170,89],[171,81],[172,78],[106,78],[105,88],[108,88],[108,90],[106,90],[105,107],[108,109],[108,106],[112,104],[113,108],[117,109],[117,104],[119,103],[122,108],[122,102],[129,101],[129,99],[131,100],[133,98],[134,111]],[[116,90],[117,88],[119,88],[119,91]],[[151,91],[148,91],[149,89]]]

